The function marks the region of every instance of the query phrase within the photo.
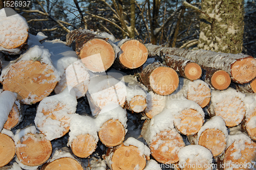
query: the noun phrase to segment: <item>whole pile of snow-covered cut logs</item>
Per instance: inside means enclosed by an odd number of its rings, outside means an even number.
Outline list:
[[[20,16],[11,17],[15,24]],[[87,169],[97,147],[103,169],[256,168],[253,57],[84,29],[49,41],[26,24],[20,36],[16,25],[0,30],[13,41],[0,41],[0,169]],[[14,51],[18,58],[5,61]],[[87,115],[76,113],[79,99]],[[15,128],[34,104],[34,122]],[[143,116],[134,120],[140,137],[126,135],[127,113]],[[69,148],[52,145],[65,137]]]

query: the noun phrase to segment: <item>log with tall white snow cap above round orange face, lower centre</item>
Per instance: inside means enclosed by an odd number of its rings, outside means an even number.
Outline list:
[[[116,147],[121,144],[126,134],[126,121],[126,111],[120,106],[105,106],[96,118],[100,141],[106,147]]]

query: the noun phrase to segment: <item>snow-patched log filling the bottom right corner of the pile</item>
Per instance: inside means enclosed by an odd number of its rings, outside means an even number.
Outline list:
[[[256,143],[247,135],[228,135],[227,149],[218,158],[218,169],[254,169],[256,159]]]

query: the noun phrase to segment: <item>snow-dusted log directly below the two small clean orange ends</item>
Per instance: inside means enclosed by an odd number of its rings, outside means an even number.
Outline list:
[[[190,81],[188,79],[180,78],[177,92],[183,93],[186,99],[196,102],[202,108],[209,104],[211,98],[208,84],[199,79]]]

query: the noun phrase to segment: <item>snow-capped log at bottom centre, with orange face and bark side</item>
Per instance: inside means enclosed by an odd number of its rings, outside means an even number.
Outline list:
[[[130,137],[117,147],[109,148],[104,159],[112,170],[142,170],[149,156],[150,149],[139,140]]]

